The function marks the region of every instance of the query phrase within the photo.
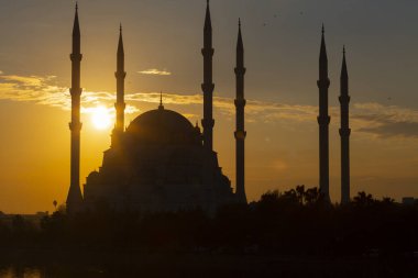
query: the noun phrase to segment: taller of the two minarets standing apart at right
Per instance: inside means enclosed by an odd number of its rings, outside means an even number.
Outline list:
[[[330,200],[329,193],[329,123],[331,118],[328,114],[328,88],[330,79],[328,78],[328,57],[324,40],[324,29],[322,25],[321,51],[319,55],[319,190]]]

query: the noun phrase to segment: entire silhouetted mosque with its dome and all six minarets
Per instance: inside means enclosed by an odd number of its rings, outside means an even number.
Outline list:
[[[319,57],[319,188],[326,200],[329,197],[329,123],[328,114],[328,57],[322,26],[322,40]],[[218,155],[213,151],[212,116],[212,26],[207,0],[204,27],[204,119],[200,131],[182,114],[167,110],[163,101],[157,109],[147,111],[124,127],[124,49],[122,26],[120,27],[117,53],[117,121],[111,134],[111,147],[105,152],[102,166],[92,171],[80,189],[80,27],[78,5],[73,29],[72,59],[72,122],[70,140],[70,186],[67,196],[68,213],[94,210],[99,203],[111,209],[141,211],[176,211],[179,209],[201,208],[213,212],[228,203],[246,203],[245,194],[245,155],[244,142],[244,47],[241,34],[241,21],[237,43],[235,94],[235,190],[230,179],[222,174]],[[349,141],[349,86],[345,63],[345,49],[341,70],[341,202],[350,201],[350,155]]]

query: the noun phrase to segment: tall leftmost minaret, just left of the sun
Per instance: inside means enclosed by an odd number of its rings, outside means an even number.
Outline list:
[[[80,26],[78,24],[78,5],[76,4],[76,15],[73,29],[73,53],[72,59],[72,162],[70,162],[70,185],[67,196],[67,211],[75,213],[82,207],[82,196],[80,190],[80,63],[82,55],[80,53]]]

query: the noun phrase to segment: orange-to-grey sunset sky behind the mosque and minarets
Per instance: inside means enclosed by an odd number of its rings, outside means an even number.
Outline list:
[[[119,24],[127,124],[156,109],[202,118],[205,0],[80,0],[81,175],[101,165],[114,122]],[[53,211],[69,187],[69,86],[75,1],[0,0],[0,211]],[[235,180],[234,58],[245,47],[246,194],[318,186],[320,29],[331,86],[330,193],[340,200],[339,78],[350,75],[351,191],[418,197],[418,35],[414,0],[211,0],[215,149]],[[100,108],[100,109],[98,109]],[[107,126],[98,126],[109,114]],[[101,127],[101,129],[99,129]]]

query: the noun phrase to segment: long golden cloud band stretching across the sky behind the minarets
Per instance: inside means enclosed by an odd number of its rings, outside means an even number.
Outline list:
[[[69,88],[57,86],[55,76],[0,75],[0,100],[31,101],[37,104],[70,108]],[[125,96],[127,113],[141,111],[141,103],[158,103],[160,92],[135,92]],[[164,103],[176,105],[201,105],[201,93],[164,93]],[[92,108],[105,105],[113,111],[114,92],[84,90],[81,112],[90,113]],[[227,116],[233,116],[233,99],[215,97],[213,107]],[[330,107],[331,124],[339,125],[339,107]],[[261,123],[316,123],[316,105],[297,105],[270,101],[249,100],[245,108],[246,121]],[[197,115],[186,112],[189,118]],[[378,138],[418,138],[418,111],[375,102],[353,103],[351,105],[351,127],[353,131],[372,134]]]

